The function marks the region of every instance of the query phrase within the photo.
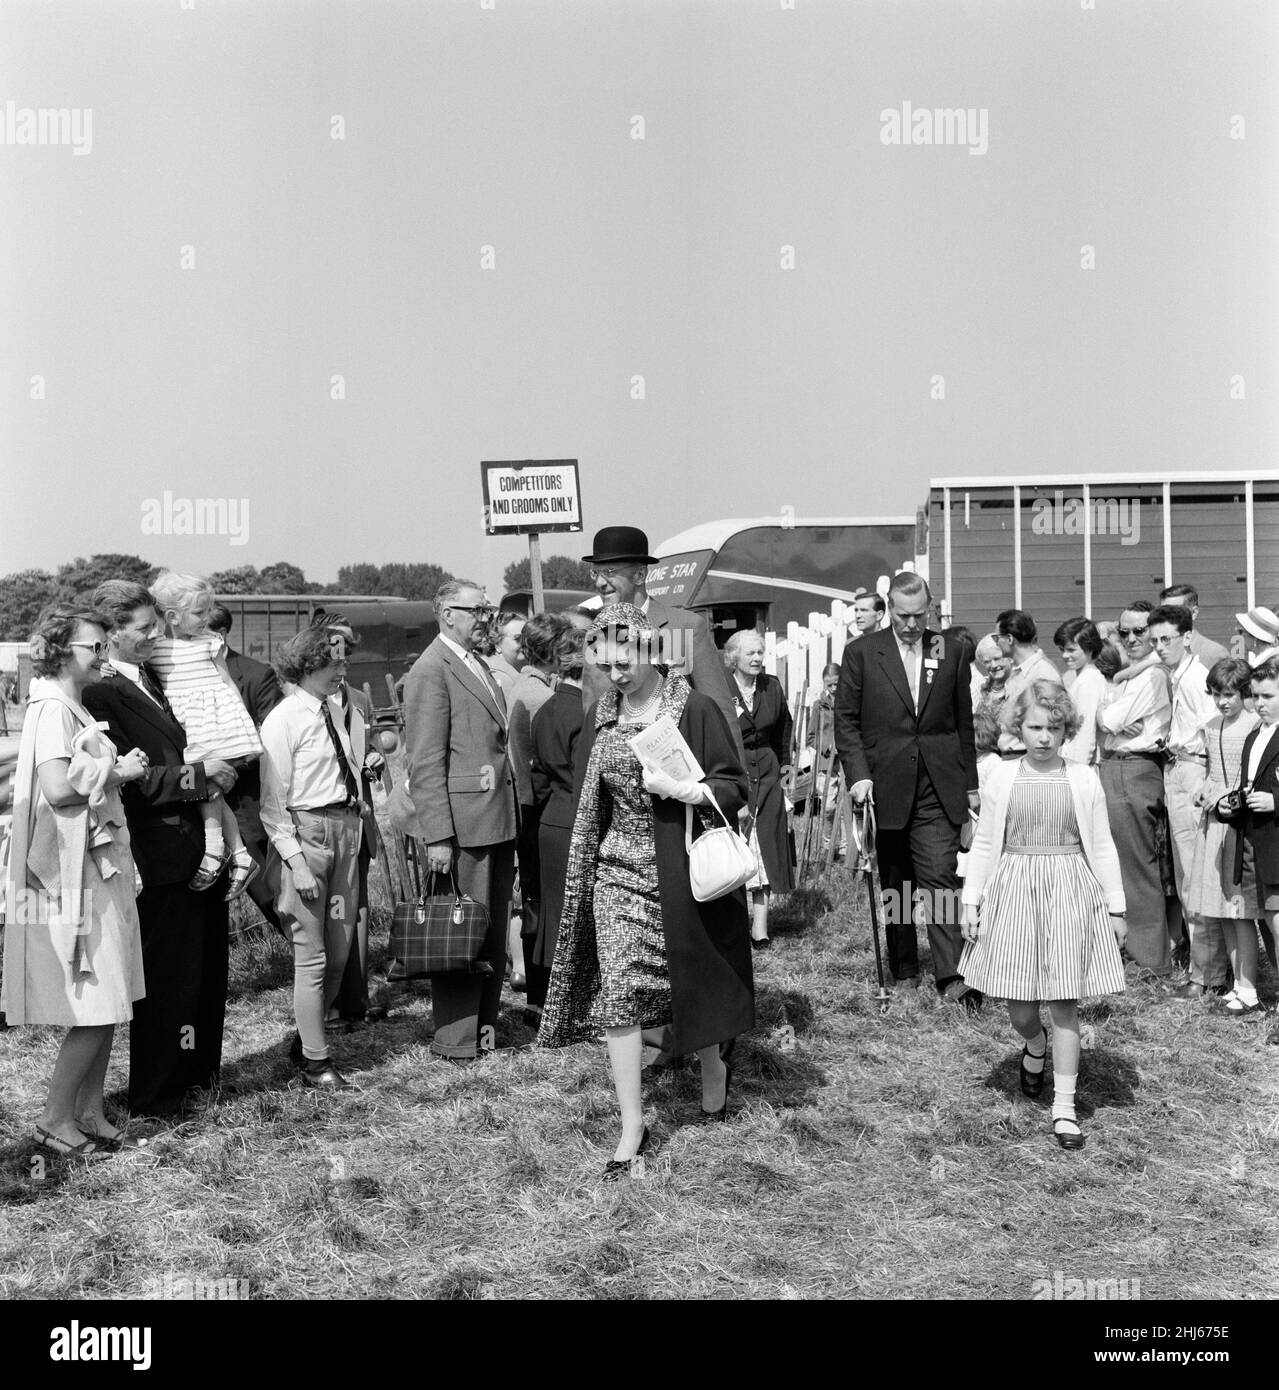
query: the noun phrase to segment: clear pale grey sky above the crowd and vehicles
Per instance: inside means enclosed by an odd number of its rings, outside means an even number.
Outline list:
[[[0,145],[0,574],[496,589],[484,459],[580,460],[570,555],[1276,466],[1279,6],[1086,4],[4,0],[0,133],[92,147]],[[904,103],[984,153],[884,143]],[[165,489],[245,543],[143,534]]]

